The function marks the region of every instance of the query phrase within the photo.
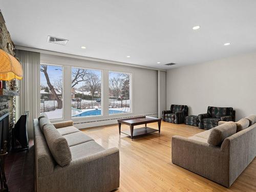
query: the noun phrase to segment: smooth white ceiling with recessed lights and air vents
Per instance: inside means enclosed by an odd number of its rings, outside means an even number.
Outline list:
[[[255,0],[0,0],[0,8],[19,46],[161,69],[256,51]]]

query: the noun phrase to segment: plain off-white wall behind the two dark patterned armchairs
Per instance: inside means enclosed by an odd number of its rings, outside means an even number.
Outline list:
[[[207,106],[232,106],[236,119],[256,114],[256,52],[175,68],[166,75],[167,103],[186,104],[190,115]]]

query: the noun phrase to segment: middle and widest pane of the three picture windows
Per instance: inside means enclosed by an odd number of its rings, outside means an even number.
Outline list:
[[[72,68],[72,117],[102,115],[100,70]]]

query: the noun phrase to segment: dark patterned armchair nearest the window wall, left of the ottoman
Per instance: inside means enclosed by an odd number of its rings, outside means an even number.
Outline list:
[[[163,111],[162,119],[163,121],[169,123],[184,123],[185,117],[188,115],[187,105],[170,105],[170,110]]]

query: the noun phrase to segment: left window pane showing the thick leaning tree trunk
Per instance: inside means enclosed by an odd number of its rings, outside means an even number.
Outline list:
[[[63,118],[62,72],[61,66],[40,65],[40,113],[49,119]]]

